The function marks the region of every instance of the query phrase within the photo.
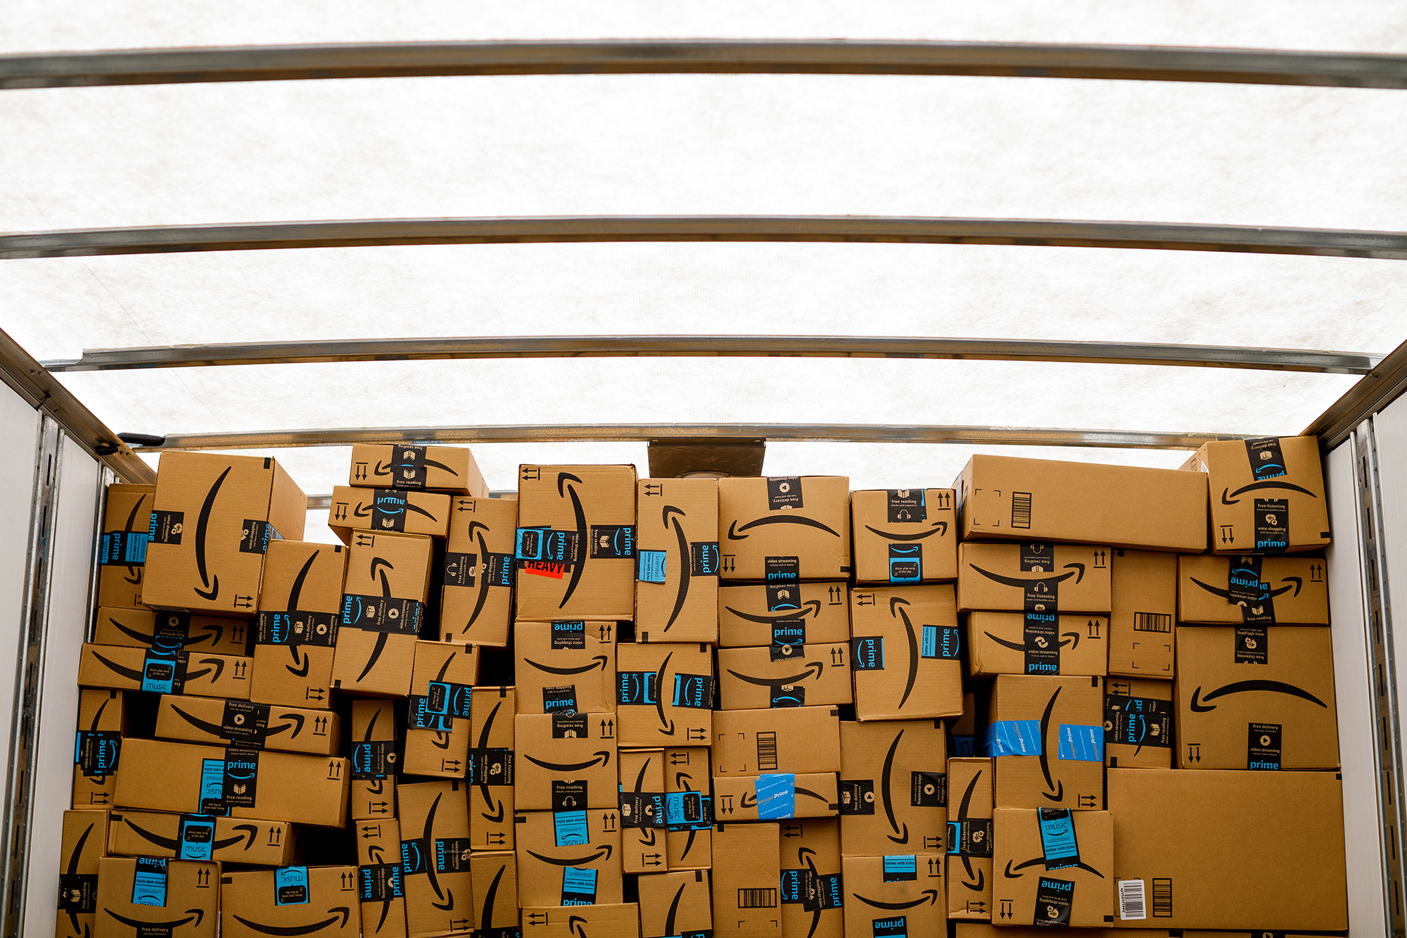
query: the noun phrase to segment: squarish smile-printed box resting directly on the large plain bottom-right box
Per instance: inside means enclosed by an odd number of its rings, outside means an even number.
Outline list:
[[[1332,654],[1328,627],[1179,630],[1179,765],[1337,769]]]

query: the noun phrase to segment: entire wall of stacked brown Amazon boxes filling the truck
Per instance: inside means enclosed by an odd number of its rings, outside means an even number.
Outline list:
[[[166,454],[108,492],[59,934],[1342,930],[1318,465],[491,499],[356,446],[312,544],[274,461]]]

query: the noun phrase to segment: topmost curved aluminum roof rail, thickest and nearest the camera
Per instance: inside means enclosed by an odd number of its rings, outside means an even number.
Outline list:
[[[848,39],[367,42],[0,56],[0,89],[454,75],[971,75],[1407,87],[1407,56]]]

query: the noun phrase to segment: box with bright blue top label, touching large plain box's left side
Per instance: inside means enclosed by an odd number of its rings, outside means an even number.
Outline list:
[[[992,827],[992,868],[1002,870],[992,890],[998,923],[1099,928],[1114,921],[1113,814],[996,808]]]

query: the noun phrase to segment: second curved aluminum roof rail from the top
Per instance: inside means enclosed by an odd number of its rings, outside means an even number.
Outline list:
[[[0,234],[0,261],[180,251],[602,241],[999,244],[1407,259],[1407,232],[1401,231],[884,215],[540,215],[27,231]]]

